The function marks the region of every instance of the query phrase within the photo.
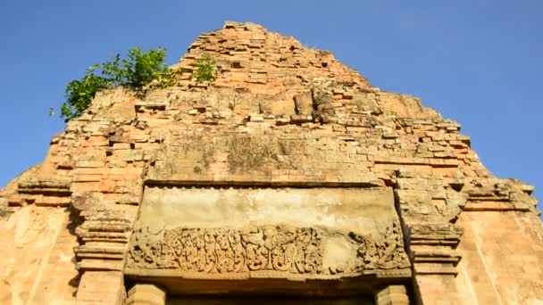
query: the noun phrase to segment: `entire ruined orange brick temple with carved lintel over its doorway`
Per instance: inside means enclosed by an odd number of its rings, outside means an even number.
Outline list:
[[[2,304],[543,304],[533,187],[455,121],[251,23],[172,69],[2,190]]]

